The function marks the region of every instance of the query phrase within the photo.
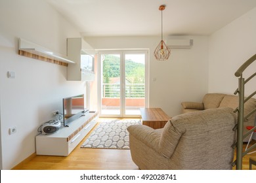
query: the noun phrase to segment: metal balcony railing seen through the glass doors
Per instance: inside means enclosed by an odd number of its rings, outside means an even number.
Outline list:
[[[120,84],[103,84],[102,93],[104,98],[119,98]],[[145,84],[125,84],[125,97],[127,98],[144,98]]]

